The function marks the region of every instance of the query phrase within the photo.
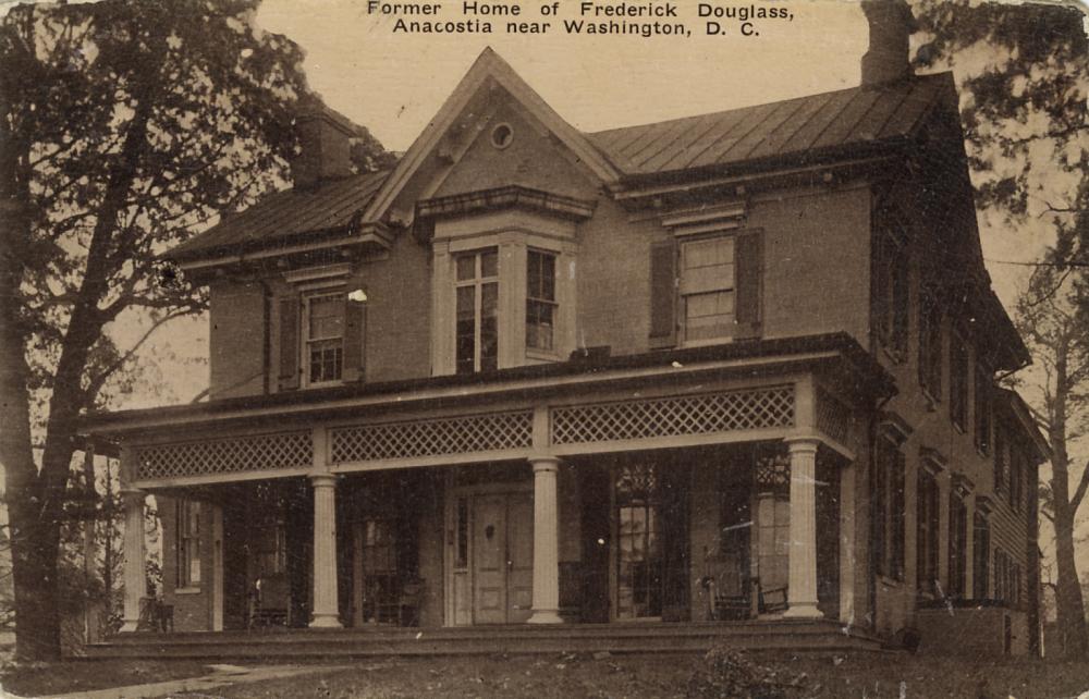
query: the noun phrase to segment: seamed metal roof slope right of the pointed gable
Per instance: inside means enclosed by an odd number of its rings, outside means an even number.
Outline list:
[[[913,135],[947,74],[588,134],[629,175],[738,164]]]

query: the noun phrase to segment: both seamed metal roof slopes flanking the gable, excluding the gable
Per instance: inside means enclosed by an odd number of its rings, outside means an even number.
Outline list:
[[[831,150],[906,138],[943,97],[950,74],[862,86],[584,136],[626,176],[816,158]],[[186,260],[283,244],[305,234],[347,229],[390,171],[278,192],[169,253]]]

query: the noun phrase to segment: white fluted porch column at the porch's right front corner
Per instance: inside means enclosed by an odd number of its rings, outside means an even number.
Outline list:
[[[817,609],[817,440],[787,440],[791,449],[788,609],[784,616],[819,618]]]

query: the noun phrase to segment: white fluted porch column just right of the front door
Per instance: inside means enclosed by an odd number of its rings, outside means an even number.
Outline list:
[[[529,459],[534,466],[534,613],[530,624],[561,624],[560,537],[554,456]]]

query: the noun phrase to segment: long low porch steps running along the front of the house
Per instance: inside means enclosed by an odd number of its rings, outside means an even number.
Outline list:
[[[827,620],[136,633],[113,636],[84,649],[87,658],[254,660],[602,651],[701,653],[714,646],[819,652],[881,650],[881,641],[865,629]]]

